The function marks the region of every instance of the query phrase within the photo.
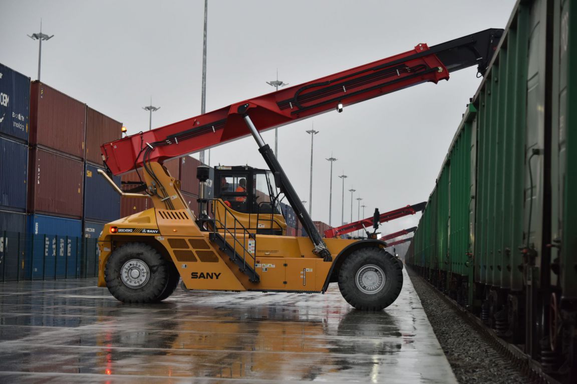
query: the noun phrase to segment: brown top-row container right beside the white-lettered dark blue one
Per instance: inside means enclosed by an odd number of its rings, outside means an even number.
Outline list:
[[[30,88],[30,144],[84,158],[86,104],[34,81]]]

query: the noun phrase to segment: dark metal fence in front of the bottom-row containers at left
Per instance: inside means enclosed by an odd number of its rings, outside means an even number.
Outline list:
[[[98,276],[98,238],[0,231],[0,279],[79,279]]]

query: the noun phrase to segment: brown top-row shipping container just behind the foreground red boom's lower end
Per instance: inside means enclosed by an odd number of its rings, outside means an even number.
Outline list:
[[[120,139],[122,123],[87,107],[86,109],[86,160],[102,165],[100,146]]]

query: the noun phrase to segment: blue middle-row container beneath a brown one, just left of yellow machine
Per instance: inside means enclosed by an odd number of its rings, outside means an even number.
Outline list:
[[[86,165],[84,218],[111,222],[120,218],[120,195],[98,174],[98,169],[102,168]],[[113,180],[120,187],[120,177],[113,177]]]

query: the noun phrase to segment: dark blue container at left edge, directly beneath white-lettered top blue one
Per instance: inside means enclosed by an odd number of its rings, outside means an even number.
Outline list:
[[[0,208],[26,211],[28,145],[0,137]]]

